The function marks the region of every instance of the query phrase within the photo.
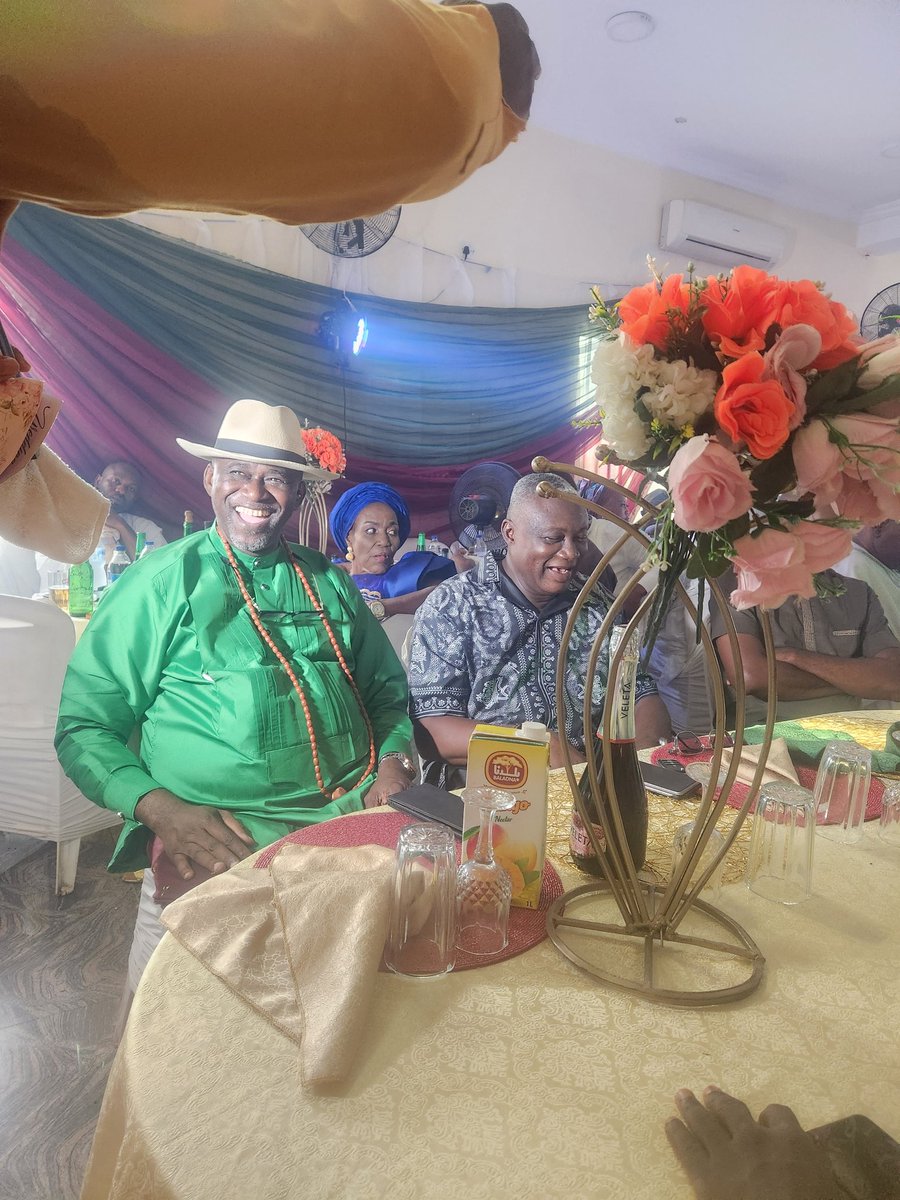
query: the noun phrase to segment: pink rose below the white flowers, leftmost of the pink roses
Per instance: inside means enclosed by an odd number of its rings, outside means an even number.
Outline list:
[[[668,468],[676,524],[709,533],[746,512],[752,503],[750,476],[731,450],[703,433],[680,446]]]

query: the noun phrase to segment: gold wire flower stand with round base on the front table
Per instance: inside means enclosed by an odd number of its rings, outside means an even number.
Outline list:
[[[590,500],[583,499],[581,496],[558,492],[546,482],[540,484],[538,488],[542,496],[558,497],[577,504],[586,509],[593,517],[611,521],[622,529],[622,536],[602,556],[578,594],[565,625],[557,665],[558,725],[559,728],[564,728],[566,719],[566,658],[578,614],[610,559],[625,545],[629,538],[637,539],[642,547],[646,550],[649,548],[650,541],[644,529],[658,518],[659,509],[640,494],[635,494],[619,484],[596,475],[593,472],[583,470],[566,463],[550,462],[546,458],[535,458],[532,466],[536,472],[562,470],[570,475],[577,475],[602,484],[605,487],[628,497],[636,505],[634,521],[629,523]],[[646,575],[642,570],[636,571],[631,576],[625,587],[619,590],[618,599],[624,600],[638,584],[646,586]],[[742,733],[746,698],[740,662],[740,647],[728,601],[715,580],[708,580],[707,586],[709,587],[710,602],[718,605],[725,622],[736,664],[734,749],[728,769],[721,781],[721,788],[719,788],[719,797],[718,799],[715,798],[715,792],[719,781],[719,769],[724,749],[722,738],[726,727],[725,686],[709,632],[701,622],[701,638],[709,667],[709,679],[715,695],[715,733],[709,780],[704,785],[700,804],[691,810],[694,814],[694,829],[686,852],[677,863],[667,884],[642,880],[635,869],[634,858],[625,840],[622,810],[619,798],[616,796],[616,784],[610,758],[604,754],[602,772],[606,784],[606,796],[608,797],[608,800],[606,800],[600,791],[598,768],[593,762],[593,755],[588,754],[584,770],[590,782],[590,793],[600,818],[600,826],[602,829],[613,833],[613,836],[606,838],[606,847],[601,846],[594,830],[595,818],[592,820],[592,815],[587,811],[587,806],[578,791],[571,750],[563,738],[560,739],[560,745],[569,786],[584,829],[590,836],[602,877],[566,892],[552,904],[547,912],[547,932],[551,940],[581,970],[595,976],[598,979],[602,979],[612,986],[636,992],[647,1000],[684,1007],[722,1004],[749,996],[758,986],[766,962],[750,935],[736,920],[728,917],[727,913],[713,907],[706,900],[701,900],[700,893],[720,868],[733,845],[756,799],[760,784],[762,782],[762,774],[766,769],[766,760],[768,758],[772,744],[772,727],[775,712],[775,658],[772,642],[772,626],[768,616],[762,611],[762,629],[768,662],[769,701],[766,715],[766,734],[758,756],[758,764],[744,803],[740,809],[734,810],[733,823],[725,834],[725,841],[719,853],[715,857],[704,857],[704,851],[707,850],[713,830],[716,828],[716,823],[722,816],[731,786],[737,775],[743,745]],[[614,679],[616,673],[620,670],[628,641],[642,618],[647,614],[652,602],[653,590],[649,590],[630,619],[626,635],[622,638],[618,650],[610,659],[608,679]],[[676,594],[672,596],[672,604],[677,602],[685,605],[691,619],[694,622],[697,620],[696,606],[680,581],[677,586],[677,596]],[[607,613],[594,640],[588,660],[582,713],[586,746],[593,744],[595,733],[592,719],[592,695],[598,662],[607,644],[614,614],[614,611]],[[611,691],[612,689],[608,689],[607,696]],[[612,706],[607,702],[604,707],[602,722],[605,745],[610,744],[611,718]]]

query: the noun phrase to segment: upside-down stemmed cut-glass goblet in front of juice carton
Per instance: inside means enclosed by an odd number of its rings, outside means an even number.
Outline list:
[[[509,942],[509,902],[512,881],[493,857],[493,818],[516,797],[493,787],[467,787],[463,800],[480,814],[473,857],[456,876],[456,944],[469,954],[498,954]]]

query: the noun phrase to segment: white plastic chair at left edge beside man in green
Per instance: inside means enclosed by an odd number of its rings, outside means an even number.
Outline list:
[[[42,600],[0,595],[0,832],[56,842],[56,892],[74,888],[82,838],[120,817],[86,799],[53,749],[74,625]]]

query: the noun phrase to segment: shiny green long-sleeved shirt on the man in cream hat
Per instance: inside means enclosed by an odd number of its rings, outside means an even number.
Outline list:
[[[374,733],[408,751],[403,667],[352,578],[292,547],[331,623]],[[235,551],[263,622],[307,696],[328,800],[287,672],[262,641],[215,530],[132,564],[103,598],[62,686],[56,750],[86,797],[125,817],[113,870],[146,865],[142,796],[228,809],[257,845],[362,806],[368,733],[324,623],[282,550]],[[355,785],[355,786],[354,786]]]

